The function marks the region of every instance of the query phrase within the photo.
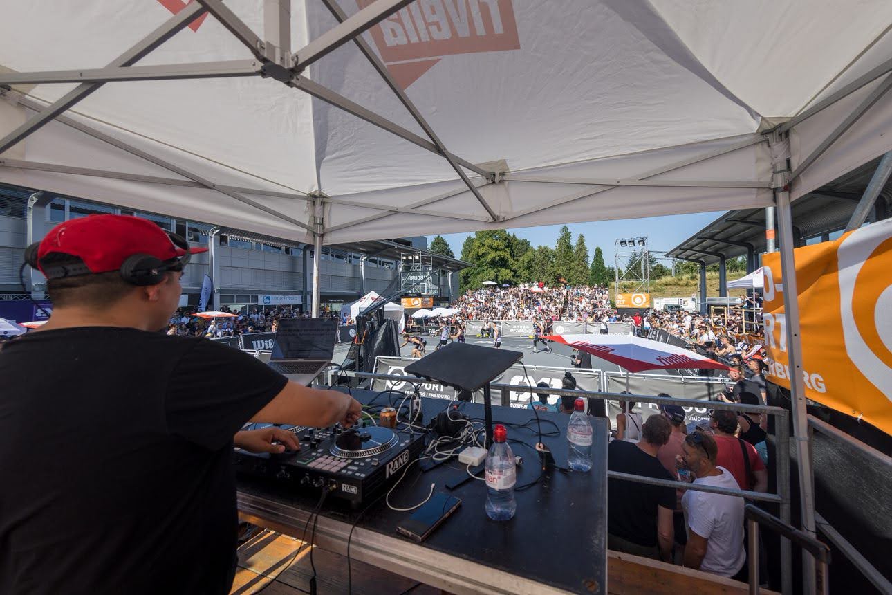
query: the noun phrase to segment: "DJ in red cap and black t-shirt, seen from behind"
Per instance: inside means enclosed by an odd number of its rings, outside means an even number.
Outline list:
[[[235,574],[245,422],[350,426],[359,402],[163,329],[195,252],[152,221],[94,215],[26,251],[49,321],[0,351],[0,592],[222,593]]]

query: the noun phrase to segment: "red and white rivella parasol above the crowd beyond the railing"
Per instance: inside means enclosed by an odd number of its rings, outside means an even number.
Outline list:
[[[549,335],[545,338],[587,351],[630,372],[676,368],[729,369],[695,351],[632,335]]]

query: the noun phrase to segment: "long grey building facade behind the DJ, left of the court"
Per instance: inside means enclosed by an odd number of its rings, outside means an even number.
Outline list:
[[[135,212],[113,205],[59,194],[40,194],[18,186],[0,185],[0,302],[40,297],[45,279],[25,269],[22,287],[19,272],[29,242],[40,240],[62,221],[90,214],[137,215],[159,227],[186,237],[190,244],[210,247],[196,254],[182,279],[181,303],[197,305],[205,275],[213,280],[213,302],[208,308],[256,304],[293,305],[310,310],[313,289],[313,246],[282,239],[254,236],[211,222],[174,219],[159,213]],[[383,293],[399,276],[401,254],[424,251],[424,236],[388,241],[359,242],[349,246],[324,246],[319,270],[321,306],[338,310],[369,291]],[[450,302],[458,292],[458,269],[465,263],[440,259],[436,273],[439,293],[434,302]],[[443,264],[442,260],[451,260]],[[398,285],[398,284],[396,284]],[[2,316],[2,314],[0,314]]]

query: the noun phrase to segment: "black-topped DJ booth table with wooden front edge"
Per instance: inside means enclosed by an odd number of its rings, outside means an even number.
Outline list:
[[[354,390],[353,396],[368,403],[374,392]],[[376,402],[387,399],[382,395]],[[423,399],[425,425],[445,409],[447,401]],[[465,403],[461,411],[468,417],[483,419],[483,405]],[[566,424],[569,416],[540,413],[544,422],[555,422],[559,436],[543,438],[554,453],[559,467],[566,467]],[[533,445],[537,442],[536,425],[530,409],[493,408],[495,423],[524,424],[527,428],[508,426],[508,438]],[[391,494],[394,507],[406,508],[424,500],[430,492],[448,492],[462,500],[461,506],[423,543],[418,544],[396,533],[396,525],[411,512],[393,511],[377,500],[359,516],[327,500],[318,515],[315,544],[337,554],[361,560],[396,574],[439,587],[451,593],[599,593],[607,592],[607,424],[590,417],[594,442],[589,473],[552,470],[541,473],[534,451],[509,442],[516,455],[523,457],[517,468],[516,485],[539,481],[515,492],[517,511],[507,522],[492,521],[483,509],[485,483],[469,479],[450,492],[445,483],[466,466],[451,459],[421,473],[412,465],[400,485]],[[402,425],[401,425],[402,426]],[[554,426],[542,426],[543,434]],[[401,472],[398,473],[398,477]],[[293,488],[265,480],[238,479],[240,516],[300,538],[318,498],[300,494]],[[357,522],[357,517],[359,521]],[[307,532],[309,537],[310,531]],[[347,569],[343,569],[346,574]]]

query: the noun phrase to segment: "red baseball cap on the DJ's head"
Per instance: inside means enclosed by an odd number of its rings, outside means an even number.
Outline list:
[[[148,219],[89,215],[53,227],[40,242],[37,261],[51,252],[62,252],[83,260],[93,273],[106,273],[120,269],[124,260],[134,254],[166,261],[207,251],[189,247],[183,237],[164,231]]]

